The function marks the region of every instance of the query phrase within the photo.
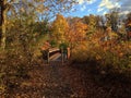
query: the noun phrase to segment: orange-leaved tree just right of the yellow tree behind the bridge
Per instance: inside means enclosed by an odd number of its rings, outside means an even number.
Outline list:
[[[70,24],[67,32],[67,40],[71,49],[74,49],[78,45],[86,39],[87,25],[80,20]]]

